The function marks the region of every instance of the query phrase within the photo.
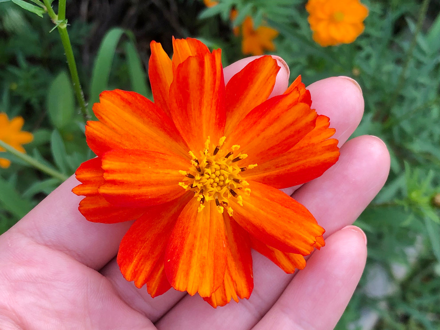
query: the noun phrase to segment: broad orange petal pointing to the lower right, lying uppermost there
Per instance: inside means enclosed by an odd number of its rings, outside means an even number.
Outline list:
[[[232,217],[264,244],[303,256],[313,251],[324,229],[300,203],[278,189],[249,181],[250,195],[242,194],[243,206],[230,198]],[[319,244],[316,244],[318,246]]]

